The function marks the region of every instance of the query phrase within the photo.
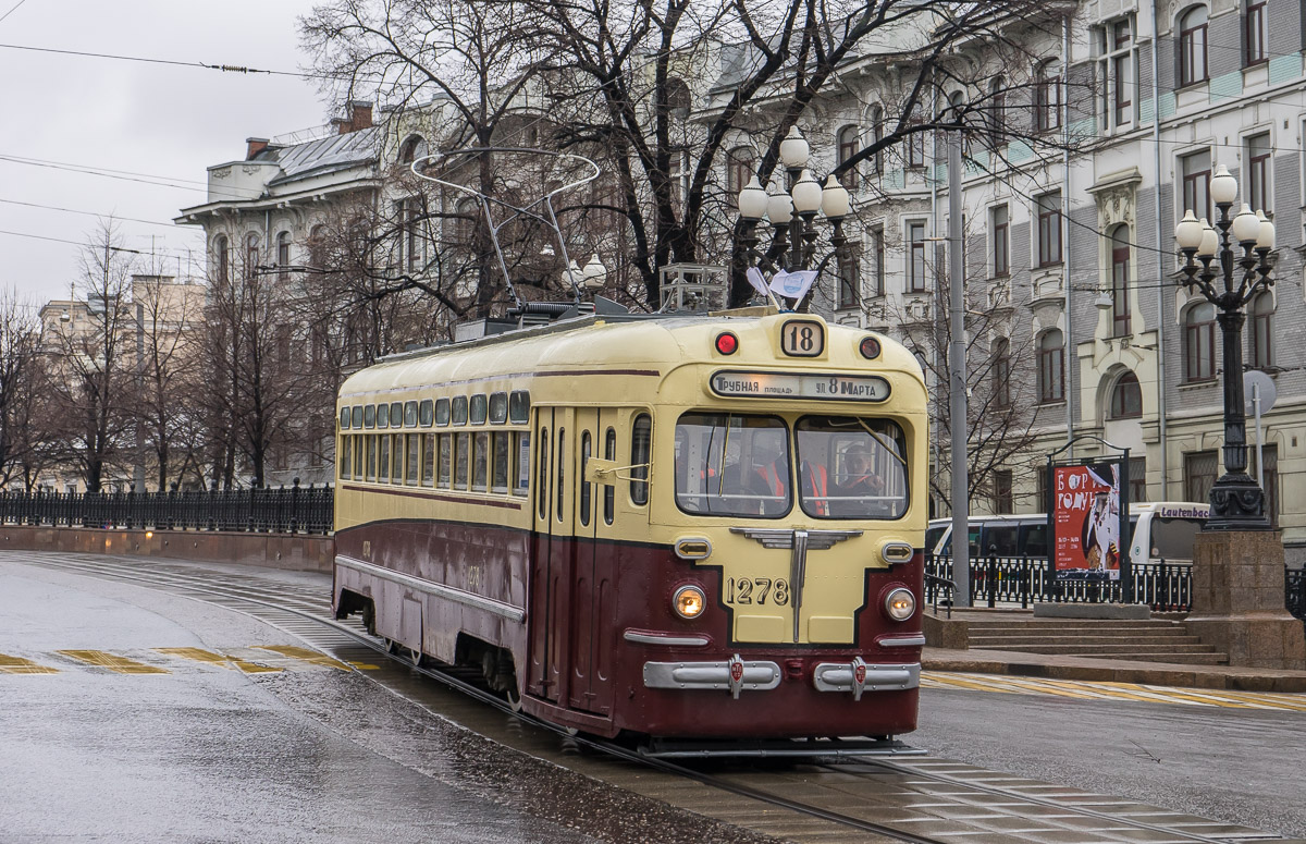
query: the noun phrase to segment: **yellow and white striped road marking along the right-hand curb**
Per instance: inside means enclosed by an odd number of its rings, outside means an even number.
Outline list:
[[[969,689],[1019,695],[1059,695],[1067,698],[1107,698],[1237,709],[1285,709],[1306,712],[1306,694],[1226,690],[1171,689],[1140,683],[1087,682],[1071,679],[1012,678],[993,674],[922,672],[921,685],[934,689]]]

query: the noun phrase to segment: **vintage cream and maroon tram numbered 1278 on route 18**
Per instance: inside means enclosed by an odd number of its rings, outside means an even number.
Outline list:
[[[589,316],[341,388],[333,605],[599,736],[916,728],[926,392],[806,314]]]

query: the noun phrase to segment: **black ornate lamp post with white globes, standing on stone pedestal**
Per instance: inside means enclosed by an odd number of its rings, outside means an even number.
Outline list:
[[[1174,229],[1174,239],[1185,257],[1186,280],[1182,284],[1190,293],[1200,293],[1216,306],[1224,345],[1225,473],[1211,487],[1211,517],[1204,530],[1269,529],[1266,494],[1247,474],[1242,325],[1246,321],[1243,307],[1247,302],[1275,284],[1269,277],[1275,225],[1266,218],[1264,212],[1254,212],[1246,203],[1242,210],[1230,217],[1229,210],[1237,193],[1238,182],[1221,165],[1211,179],[1211,199],[1220,209],[1220,219],[1212,226],[1205,218],[1198,219],[1192,209],[1187,209]],[[1234,243],[1242,248],[1241,256],[1234,255]]]

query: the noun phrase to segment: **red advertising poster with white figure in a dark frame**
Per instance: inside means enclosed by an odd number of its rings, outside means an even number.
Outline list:
[[[1053,566],[1058,579],[1119,580],[1121,465],[1053,466]]]

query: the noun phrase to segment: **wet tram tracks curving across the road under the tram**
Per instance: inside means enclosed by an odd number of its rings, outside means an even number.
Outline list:
[[[515,713],[500,696],[469,682],[458,673],[449,673],[422,664],[414,666],[411,660],[390,653],[385,643],[366,634],[357,622],[342,623],[330,617],[325,596],[303,587],[296,587],[272,577],[200,570],[192,564],[155,560],[120,560],[102,557],[80,557],[65,554],[34,554],[25,558],[30,564],[43,566],[71,574],[88,575],[107,580],[129,583],[151,589],[162,589],[180,597],[204,601],[225,609],[243,613],[269,623],[287,634],[295,635],[313,647],[333,652],[343,648],[362,647],[377,655],[384,655],[410,672],[432,678],[444,686],[456,689],[499,712]],[[895,762],[889,759],[868,759],[858,762],[838,762],[811,764],[791,764],[776,770],[721,770],[720,763],[687,764],[669,759],[652,759],[622,745],[572,736],[568,730],[554,725],[525,719],[533,726],[550,730],[572,746],[585,747],[597,756],[620,764],[654,770],[674,779],[688,779],[708,789],[734,794],[746,801],[764,806],[784,809],[794,815],[808,818],[846,832],[862,834],[857,840],[914,841],[939,844],[956,840],[960,832],[940,834],[940,824],[961,823],[964,818],[978,823],[976,834],[1000,835],[1003,828],[1015,832],[1010,820],[1019,819],[1021,832],[1032,837],[1012,834],[1010,840],[1051,840],[1037,837],[1040,834],[1053,834],[1058,830],[1093,830],[1100,837],[1085,840],[1121,841],[1175,841],[1216,844],[1226,841],[1272,840],[1275,836],[1232,824],[1217,824],[1202,818],[1168,813],[1151,806],[1138,806],[1128,801],[1094,798],[1091,794],[1075,793],[1071,789],[1055,789],[1045,784],[1029,781],[1021,788],[1008,788],[993,784],[996,780],[1012,780],[978,768],[968,768],[938,759],[919,762]],[[590,775],[594,776],[594,775]],[[823,785],[837,781],[840,785]],[[811,788],[798,788],[799,785]],[[827,788],[840,800],[825,797],[793,797],[788,794],[814,793],[818,787]],[[1038,789],[1055,789],[1057,796],[1040,796]],[[885,792],[897,794],[885,803]],[[863,796],[862,798],[855,798]],[[849,800],[853,797],[854,800]],[[705,801],[705,806],[720,802],[720,797]],[[841,805],[842,803],[842,805]],[[857,806],[855,811],[848,809]],[[888,806],[888,810],[884,810]],[[710,809],[684,806],[700,814]],[[973,809],[973,811],[968,810]],[[902,818],[916,811],[921,818]],[[885,822],[876,819],[893,815]],[[985,815],[976,819],[972,815]],[[741,823],[738,818],[733,822]],[[768,835],[767,824],[743,823],[750,828]],[[916,830],[913,830],[916,827]],[[1043,827],[1040,830],[1038,827]],[[921,831],[929,830],[929,831]],[[1109,832],[1119,834],[1111,837]],[[824,834],[828,840],[829,832]],[[819,836],[818,836],[819,837]],[[802,836],[798,836],[802,840]],[[850,840],[841,837],[840,840]]]

